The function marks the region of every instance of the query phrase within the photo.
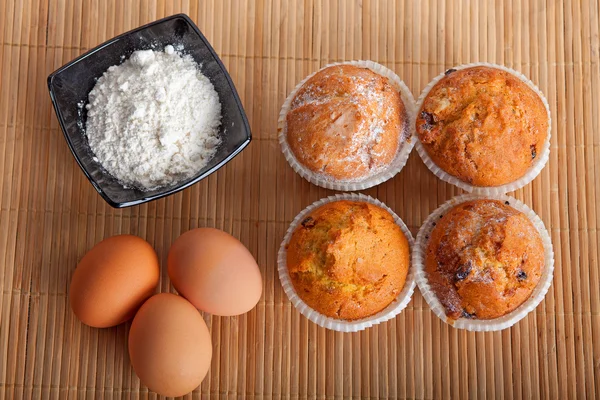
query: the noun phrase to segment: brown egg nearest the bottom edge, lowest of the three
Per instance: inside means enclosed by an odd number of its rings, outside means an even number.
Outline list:
[[[171,293],[152,296],[129,330],[129,357],[140,381],[163,396],[183,396],[206,376],[212,342],[198,310]]]

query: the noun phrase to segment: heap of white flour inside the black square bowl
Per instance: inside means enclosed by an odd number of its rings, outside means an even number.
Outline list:
[[[221,103],[191,56],[140,50],[98,79],[86,106],[98,162],[126,186],[191,178],[221,143]]]

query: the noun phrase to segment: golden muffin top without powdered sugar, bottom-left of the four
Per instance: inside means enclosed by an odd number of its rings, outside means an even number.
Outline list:
[[[396,299],[409,268],[408,240],[389,212],[357,201],[327,203],[306,217],[287,247],[296,293],[321,314],[369,317]]]

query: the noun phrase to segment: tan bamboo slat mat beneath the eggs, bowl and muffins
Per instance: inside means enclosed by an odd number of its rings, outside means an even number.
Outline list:
[[[71,156],[46,77],[106,39],[178,12],[227,66],[253,141],[199,184],[115,210]],[[600,397],[599,24],[597,0],[0,0],[0,399],[155,398],[130,366],[128,325],[82,325],[67,289],[77,261],[107,236],[140,235],[164,265],[169,245],[197,226],[240,238],[258,260],[264,294],[246,315],[205,316],[214,358],[189,398]],[[392,321],[342,334],[287,300],[279,243],[300,210],[333,192],[288,166],[277,115],[302,78],[350,59],[391,68],[415,97],[444,69],[475,61],[519,70],[548,97],[549,165],[512,195],[544,220],[556,271],[545,301],[513,328],[453,329],[417,291]],[[398,176],[365,193],[416,234],[460,190],[413,152]],[[165,268],[160,289],[170,290]]]

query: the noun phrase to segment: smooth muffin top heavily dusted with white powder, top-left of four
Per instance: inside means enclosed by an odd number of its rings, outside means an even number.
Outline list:
[[[286,136],[302,165],[352,181],[393,161],[407,125],[400,93],[388,78],[368,68],[336,65],[298,90],[286,116]]]

